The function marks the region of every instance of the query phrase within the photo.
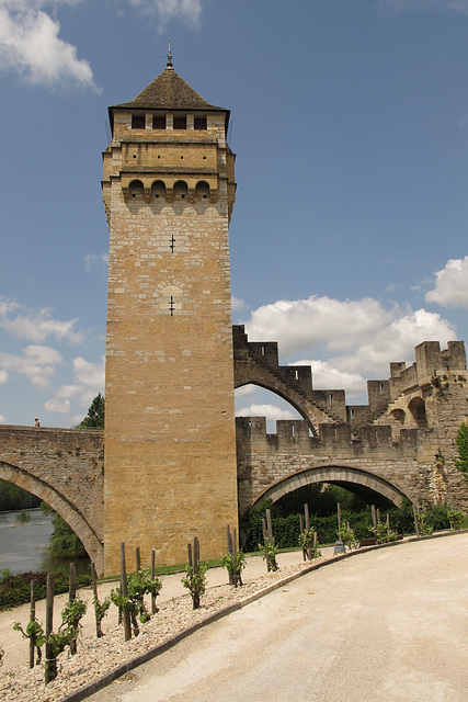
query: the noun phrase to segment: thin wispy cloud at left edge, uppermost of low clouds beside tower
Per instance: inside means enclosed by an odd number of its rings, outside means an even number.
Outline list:
[[[73,330],[77,321],[77,319],[58,321],[53,318],[52,310],[47,307],[31,310],[14,301],[4,297],[0,299],[0,328],[5,329],[16,339],[42,342],[48,337],[55,337],[58,340],[81,343],[82,335]]]

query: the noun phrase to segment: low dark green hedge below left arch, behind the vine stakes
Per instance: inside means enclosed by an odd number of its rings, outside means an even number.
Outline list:
[[[0,579],[0,610],[16,607],[31,599],[31,580],[36,581],[36,599],[44,599],[47,589],[46,573],[22,573],[21,575],[5,574]],[[77,587],[91,584],[91,576],[77,575]],[[58,573],[55,577],[55,595],[68,592],[68,573]]]

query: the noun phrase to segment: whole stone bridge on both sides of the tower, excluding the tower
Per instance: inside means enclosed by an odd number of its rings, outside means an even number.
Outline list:
[[[309,366],[281,366],[277,344],[249,342],[233,328],[235,384],[265,387],[304,419],[236,420],[239,512],[311,483],[346,487],[368,502],[449,502],[468,511],[467,484],[454,463],[468,415],[463,342],[416,348],[416,362],[390,364],[368,383],[369,403],[346,406],[343,390],[316,390]],[[81,539],[98,573],[104,564],[104,433],[0,426],[0,477],[50,505]]]

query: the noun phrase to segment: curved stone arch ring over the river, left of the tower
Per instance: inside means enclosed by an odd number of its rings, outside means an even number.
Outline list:
[[[60,491],[45,483],[37,476],[18,466],[0,461],[0,478],[8,483],[13,483],[27,492],[35,495],[44,502],[47,502],[75,531],[82,542],[91,561],[94,563],[96,573],[104,571],[104,544],[98,534],[76,506],[73,506]]]

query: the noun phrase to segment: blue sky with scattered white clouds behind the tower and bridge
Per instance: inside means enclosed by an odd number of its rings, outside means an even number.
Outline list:
[[[107,106],[169,38],[231,110],[249,338],[350,404],[421,341],[468,339],[468,0],[0,0],[0,422],[70,427],[104,390]]]

